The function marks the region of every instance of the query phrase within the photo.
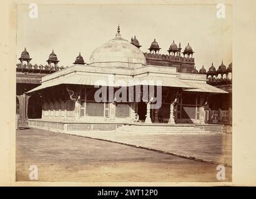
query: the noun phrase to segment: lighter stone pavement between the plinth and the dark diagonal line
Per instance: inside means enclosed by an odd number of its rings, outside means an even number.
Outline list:
[[[73,133],[73,132],[72,132]],[[232,166],[232,134],[133,134],[127,132],[74,132],[135,147],[158,150],[213,164]]]

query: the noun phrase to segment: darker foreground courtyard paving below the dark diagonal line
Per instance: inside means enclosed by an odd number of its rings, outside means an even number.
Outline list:
[[[144,135],[144,139],[152,138]],[[194,142],[184,139],[172,142],[173,149],[194,148]],[[39,181],[218,182],[215,164],[87,137],[21,129],[16,131],[17,181],[30,181],[30,165],[37,165]],[[227,181],[231,175],[232,168],[225,167]]]

